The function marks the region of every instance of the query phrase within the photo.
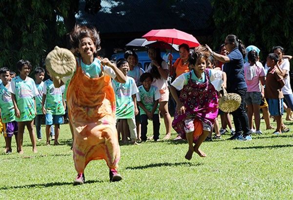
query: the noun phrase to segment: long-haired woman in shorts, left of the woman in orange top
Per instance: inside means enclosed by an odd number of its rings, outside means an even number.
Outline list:
[[[168,140],[171,137],[171,116],[168,111],[169,89],[167,85],[167,78],[169,75],[169,68],[167,62],[162,59],[159,48],[148,47],[147,54],[151,63],[146,67],[146,72],[149,72],[154,80],[152,85],[156,86],[161,94],[159,99],[159,110],[164,117],[166,126],[166,136],[163,140]]]

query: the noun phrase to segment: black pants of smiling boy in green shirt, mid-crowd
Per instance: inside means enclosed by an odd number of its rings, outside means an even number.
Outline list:
[[[146,141],[147,137],[147,124],[148,124],[148,118],[147,115],[143,114],[141,115],[141,125],[142,125],[142,135],[141,135],[141,139],[143,141]],[[159,135],[160,135],[160,118],[159,118],[159,114],[154,114],[153,115],[153,134],[154,134],[154,140],[158,140],[159,139]]]

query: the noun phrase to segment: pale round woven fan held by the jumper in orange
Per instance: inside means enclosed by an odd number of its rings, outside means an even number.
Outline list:
[[[46,69],[54,77],[66,77],[76,69],[76,59],[71,51],[64,48],[55,48],[47,55]]]

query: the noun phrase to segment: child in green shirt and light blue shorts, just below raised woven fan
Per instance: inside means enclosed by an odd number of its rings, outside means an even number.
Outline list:
[[[60,124],[63,123],[63,115],[65,114],[64,102],[63,102],[63,90],[64,87],[55,88],[53,80],[49,72],[47,74],[50,79],[44,81],[43,97],[42,97],[42,111],[45,115],[46,124],[46,144],[50,145],[50,128],[54,124],[55,127],[55,139],[54,145],[59,145],[58,142]]]

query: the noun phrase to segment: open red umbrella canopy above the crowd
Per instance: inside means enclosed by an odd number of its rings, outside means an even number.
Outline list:
[[[186,43],[189,47],[197,47],[200,43],[192,35],[176,29],[151,30],[143,38],[148,41],[164,41],[171,44]]]

